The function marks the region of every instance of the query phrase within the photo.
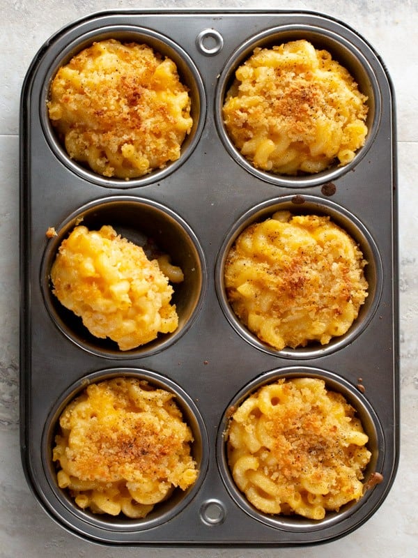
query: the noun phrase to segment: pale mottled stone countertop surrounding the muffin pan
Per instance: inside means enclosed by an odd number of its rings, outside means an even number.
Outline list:
[[[418,3],[415,0],[0,0],[0,558],[418,556]],[[26,484],[19,440],[19,100],[26,70],[55,31],[83,15],[134,8],[318,10],[361,33],[385,61],[394,82],[398,121],[401,335],[401,457],[387,499],[362,527],[303,549],[110,548],[56,525]]]

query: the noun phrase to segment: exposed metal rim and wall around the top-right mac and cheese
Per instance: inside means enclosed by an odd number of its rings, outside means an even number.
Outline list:
[[[235,148],[231,138],[229,137],[224,119],[222,116],[222,107],[226,93],[229,90],[235,78],[235,71],[253,54],[256,47],[271,48],[274,45],[281,45],[293,40],[308,40],[318,50],[327,50],[332,55],[332,59],[338,61],[341,66],[346,68],[350,75],[353,76],[355,82],[359,86],[359,91],[367,96],[366,104],[368,106],[368,114],[366,118],[366,126],[368,133],[364,146],[360,148],[350,163],[344,166],[332,165],[330,168],[318,172],[317,174],[306,174],[300,176],[288,176],[284,174],[274,174],[272,172],[263,171],[251,164],[240,151]],[[265,29],[256,36],[249,38],[245,43],[240,45],[233,55],[227,61],[224,70],[218,80],[217,91],[215,95],[215,120],[217,130],[222,142],[229,152],[233,160],[244,167],[248,172],[257,176],[263,181],[275,184],[277,186],[287,186],[291,188],[302,188],[309,186],[317,186],[337,179],[353,169],[355,165],[364,157],[373,143],[374,137],[380,123],[380,87],[376,75],[373,73],[369,61],[362,53],[359,47],[355,45],[355,40],[351,41],[340,36],[330,29],[316,27],[307,24],[290,24],[281,27],[273,27]]]

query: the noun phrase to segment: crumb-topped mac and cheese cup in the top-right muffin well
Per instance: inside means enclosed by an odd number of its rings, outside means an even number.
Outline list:
[[[366,100],[329,52],[295,40],[256,48],[236,70],[224,124],[254,167],[313,174],[346,165],[364,145]]]

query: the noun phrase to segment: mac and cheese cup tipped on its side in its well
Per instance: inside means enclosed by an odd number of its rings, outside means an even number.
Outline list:
[[[183,272],[167,255],[160,268],[110,225],[98,231],[75,227],[61,243],[50,276],[61,304],[81,317],[92,335],[110,338],[121,351],[178,327],[169,280],[181,282]]]

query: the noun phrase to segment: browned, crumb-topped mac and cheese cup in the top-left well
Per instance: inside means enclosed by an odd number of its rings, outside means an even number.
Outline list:
[[[47,107],[70,158],[132,179],[180,157],[192,129],[190,103],[171,59],[109,39],[59,68]]]

